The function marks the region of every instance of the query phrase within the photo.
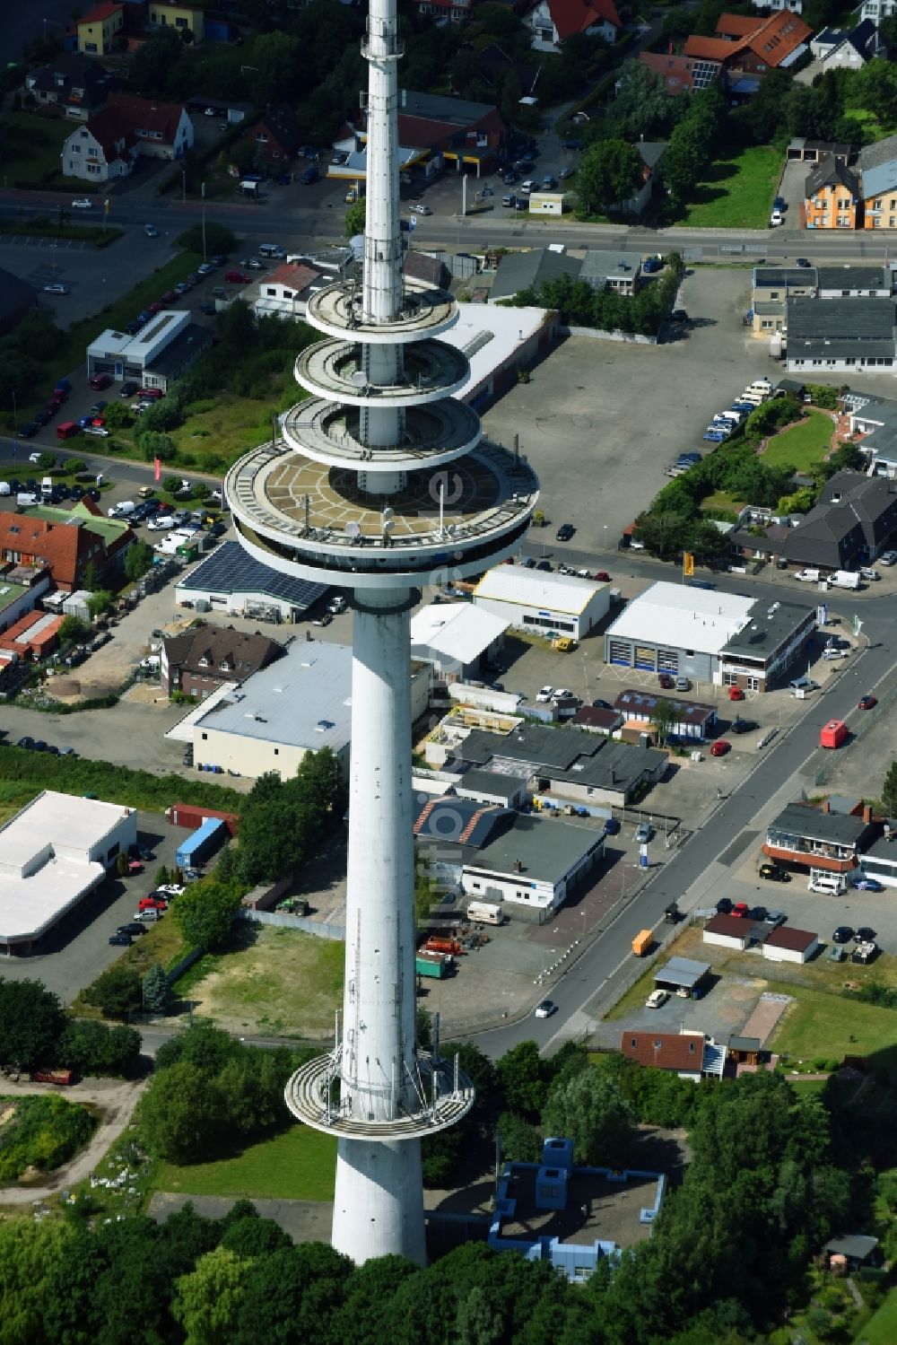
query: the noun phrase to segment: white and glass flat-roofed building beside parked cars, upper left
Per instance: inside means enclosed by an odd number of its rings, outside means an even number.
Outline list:
[[[109,374],[141,387],[168,391],[183,371],[211,346],[211,331],[191,321],[188,309],[163,308],[134,336],[110,327],[87,346],[87,378]]]

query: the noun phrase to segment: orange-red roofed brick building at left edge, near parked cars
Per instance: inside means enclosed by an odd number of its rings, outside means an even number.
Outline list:
[[[0,511],[0,558],[13,565],[46,566],[65,593],[83,588],[89,569],[113,588],[136,541],[125,523],[104,518],[93,502],[71,510]]]

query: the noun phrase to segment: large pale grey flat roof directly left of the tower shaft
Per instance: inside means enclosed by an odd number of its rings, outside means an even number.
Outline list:
[[[348,646],[295,640],[282,659],[235,683],[195,729],[339,752],[350,741],[351,691]]]

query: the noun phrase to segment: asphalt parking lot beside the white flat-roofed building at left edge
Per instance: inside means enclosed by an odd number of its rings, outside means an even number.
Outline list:
[[[46,935],[35,952],[4,958],[0,974],[7,981],[40,981],[65,1005],[71,1003],[79,990],[121,956],[121,948],[110,946],[109,936],[117,925],[133,919],[139,900],[152,892],[156,869],[163,863],[173,866],[175,850],[186,835],[157,812],[140,812],[137,842],[153,854],[144,873],[108,877]]]

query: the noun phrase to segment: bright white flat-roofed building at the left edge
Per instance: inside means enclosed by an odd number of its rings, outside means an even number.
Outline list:
[[[137,812],[44,790],[0,827],[0,947],[34,943],[78,905],[137,841]]]

